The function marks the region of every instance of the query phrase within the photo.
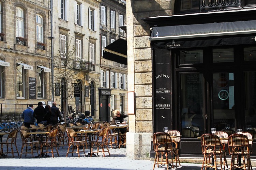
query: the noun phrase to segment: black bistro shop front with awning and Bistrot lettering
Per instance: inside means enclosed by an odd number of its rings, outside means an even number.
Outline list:
[[[256,131],[255,10],[143,20],[151,27],[154,133],[180,131],[181,155],[198,156],[197,137],[211,128]]]

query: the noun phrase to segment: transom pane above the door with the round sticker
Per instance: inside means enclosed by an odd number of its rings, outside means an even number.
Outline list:
[[[234,62],[234,49],[214,49],[212,50],[212,60],[213,63]]]

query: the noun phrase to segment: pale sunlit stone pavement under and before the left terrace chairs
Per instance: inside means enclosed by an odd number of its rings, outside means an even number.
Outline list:
[[[4,135],[3,141],[6,141],[7,135]],[[21,150],[21,137],[18,132],[17,138],[18,151]],[[6,147],[5,147],[6,148]],[[6,150],[4,148],[4,150]],[[94,148],[95,150],[96,148]],[[36,150],[34,150],[36,151]],[[14,158],[11,154],[7,157],[0,158],[0,170],[150,170],[153,169],[153,161],[150,160],[134,160],[126,157],[126,148],[109,149],[110,155],[106,153],[106,157],[103,157],[102,153],[99,153],[99,157],[84,157],[84,154],[80,154],[80,158],[77,154],[69,154],[66,156],[67,146],[60,147],[59,157],[40,157],[33,158],[31,154],[25,157],[22,154],[22,158],[19,158],[17,154],[14,154]],[[86,154],[89,149],[86,149]],[[51,155],[50,155],[51,156]],[[55,154],[57,156],[57,154]],[[177,170],[200,170],[201,164],[189,164],[182,163],[178,166]],[[256,168],[253,168],[256,169]],[[155,170],[166,170],[166,166],[157,168]]]

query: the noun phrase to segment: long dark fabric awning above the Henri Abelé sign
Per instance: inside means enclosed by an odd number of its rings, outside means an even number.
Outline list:
[[[153,27],[150,40],[256,33],[256,20]]]

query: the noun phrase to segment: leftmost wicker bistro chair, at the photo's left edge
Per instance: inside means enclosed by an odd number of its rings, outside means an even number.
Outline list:
[[[13,157],[14,157],[14,153],[17,153],[18,156],[19,156],[19,151],[18,151],[18,148],[17,148],[17,145],[16,145],[17,133],[18,133],[18,129],[12,130],[12,131],[9,133],[9,135],[8,135],[8,137],[7,137],[7,139],[6,139],[6,141],[0,143],[0,145],[1,145],[0,153],[1,153],[1,154],[5,154],[5,153],[6,153],[6,156],[7,156],[8,153],[11,153],[11,154],[13,155]],[[4,145],[5,145],[6,148],[7,148],[7,149],[6,149],[6,152],[3,152],[3,146],[4,146]],[[11,145],[11,152],[9,152],[9,150],[8,150],[9,145]],[[15,148],[16,148],[16,152],[13,151],[13,145],[14,145]]]

